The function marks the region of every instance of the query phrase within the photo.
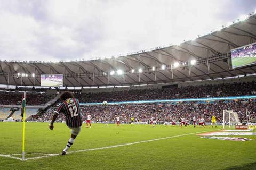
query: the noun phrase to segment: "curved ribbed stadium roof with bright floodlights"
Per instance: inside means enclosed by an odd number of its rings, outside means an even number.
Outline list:
[[[206,35],[197,35],[194,40],[126,56],[90,61],[2,60],[0,84],[40,86],[41,74],[64,74],[64,86],[168,83],[252,74],[256,73],[255,64],[232,69],[230,49],[255,41],[256,15],[253,12]]]

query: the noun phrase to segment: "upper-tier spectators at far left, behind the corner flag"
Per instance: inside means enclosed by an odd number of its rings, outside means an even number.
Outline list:
[[[22,92],[0,92],[1,105],[20,105],[22,100]],[[26,105],[45,105],[51,101],[55,95],[45,93],[26,93]]]

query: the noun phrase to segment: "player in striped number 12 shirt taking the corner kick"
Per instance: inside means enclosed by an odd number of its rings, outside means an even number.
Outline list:
[[[49,126],[49,129],[53,130],[54,126],[53,123],[58,117],[59,114],[64,114],[66,117],[66,124],[68,128],[71,129],[71,137],[68,140],[68,144],[63,149],[61,155],[65,155],[67,150],[73,145],[76,136],[79,134],[82,126],[82,117],[81,117],[81,110],[79,107],[79,101],[68,91],[63,92],[60,95],[60,100],[62,103],[58,107],[56,111],[54,111],[54,115],[52,117],[52,122]]]

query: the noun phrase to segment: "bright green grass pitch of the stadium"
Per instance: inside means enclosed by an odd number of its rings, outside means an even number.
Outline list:
[[[20,154],[22,123],[0,122],[0,128],[0,154]],[[0,156],[0,169],[256,169],[255,135],[243,136],[254,141],[240,142],[202,139],[190,134],[220,128],[83,125],[70,152],[174,137],[23,162]],[[48,123],[26,123],[26,158],[41,156],[33,153],[60,154],[69,137],[70,129],[64,123],[55,123],[52,131]]]

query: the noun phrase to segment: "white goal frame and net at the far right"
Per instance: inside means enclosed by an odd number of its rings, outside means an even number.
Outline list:
[[[223,110],[223,128],[226,126],[234,126],[240,124],[237,112],[232,110]]]

